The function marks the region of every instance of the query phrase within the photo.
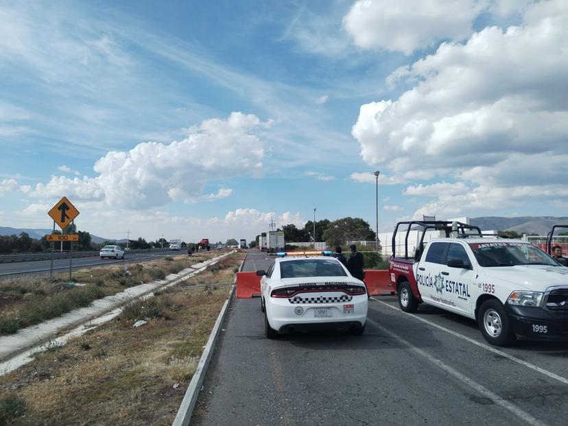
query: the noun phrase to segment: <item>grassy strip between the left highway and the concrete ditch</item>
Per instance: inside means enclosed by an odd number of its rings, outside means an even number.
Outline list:
[[[106,268],[85,268],[73,272],[69,285],[66,274],[55,281],[45,276],[0,281],[0,335],[16,333],[32,324],[55,318],[93,300],[121,292],[125,287],[164,279],[168,274],[219,255],[215,252],[188,257],[178,255],[143,263],[125,263]]]

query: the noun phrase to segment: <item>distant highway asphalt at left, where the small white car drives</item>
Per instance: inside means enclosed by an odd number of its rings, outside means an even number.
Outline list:
[[[78,257],[73,259],[73,270],[78,268],[110,265],[123,262],[137,262],[144,259],[158,259],[167,255],[187,254],[183,250],[171,250],[165,252],[146,252],[146,253],[128,253],[124,255],[124,259],[100,259],[98,256]],[[0,279],[4,277],[12,277],[22,274],[49,274],[51,261],[30,261],[30,262],[14,262],[0,263]],[[54,272],[69,270],[69,259],[54,259]]]

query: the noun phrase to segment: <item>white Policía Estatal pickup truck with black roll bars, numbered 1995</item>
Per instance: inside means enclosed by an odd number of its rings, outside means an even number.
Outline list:
[[[421,238],[409,255],[416,229]],[[425,243],[427,233],[440,237]],[[460,222],[412,221],[397,224],[392,252],[390,280],[403,311],[427,303],[472,318],[497,346],[516,338],[568,340],[568,268],[536,246],[484,237]]]

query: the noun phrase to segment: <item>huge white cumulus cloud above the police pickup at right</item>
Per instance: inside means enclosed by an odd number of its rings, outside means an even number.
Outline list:
[[[398,99],[361,106],[352,134],[368,165],[408,180],[459,181],[408,187],[405,195],[437,198],[417,215],[565,197],[568,3],[529,3],[522,19],[442,43],[394,71],[393,84],[410,84]]]

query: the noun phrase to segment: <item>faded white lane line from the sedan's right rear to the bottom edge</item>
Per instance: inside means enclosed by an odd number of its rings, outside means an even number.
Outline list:
[[[469,377],[462,375],[462,373],[459,372],[458,370],[455,370],[455,368],[452,368],[451,366],[444,364],[442,361],[440,361],[440,359],[433,357],[432,355],[426,353],[420,348],[417,348],[410,342],[407,342],[406,340],[401,338],[401,336],[392,333],[392,331],[387,330],[385,327],[382,327],[381,325],[379,325],[378,322],[370,320],[369,318],[367,318],[367,321],[373,324],[375,327],[379,328],[381,331],[383,331],[383,333],[387,333],[388,335],[390,335],[390,337],[392,337],[394,340],[398,340],[405,346],[408,346],[411,351],[417,353],[421,357],[425,357],[429,362],[442,368],[442,370],[451,374],[453,377],[455,377],[455,379],[458,379],[459,381],[466,384],[470,388],[475,389],[478,393],[484,395],[484,397],[493,400],[495,403],[501,405],[501,407],[504,407],[506,410],[512,412],[512,414],[523,419],[525,422],[529,423],[530,425],[545,425],[545,423],[542,423],[537,418],[534,418],[533,416],[528,414],[528,412],[524,412],[523,410],[521,410],[519,407],[517,407],[517,405],[514,405],[509,401],[506,401],[506,399],[499,397],[499,395],[491,392],[485,386],[480,385],[480,383],[477,383],[476,381],[473,381]]]

